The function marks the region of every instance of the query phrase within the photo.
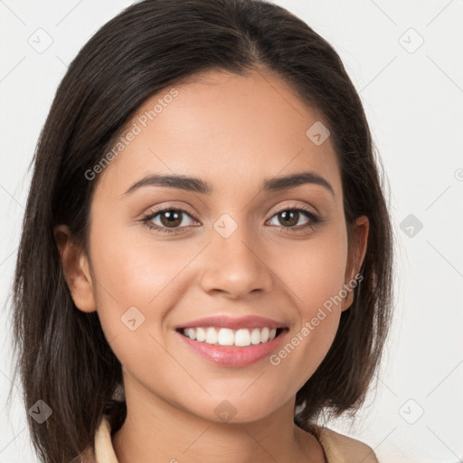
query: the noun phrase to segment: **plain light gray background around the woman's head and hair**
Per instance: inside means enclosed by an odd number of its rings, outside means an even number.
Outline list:
[[[131,3],[0,0],[0,463],[37,461],[20,384],[11,416],[5,408],[12,369],[5,301],[27,167],[67,64]],[[327,424],[370,444],[384,463],[463,461],[463,1],[276,3],[345,62],[390,182],[398,237],[397,307],[377,392],[354,426]]]

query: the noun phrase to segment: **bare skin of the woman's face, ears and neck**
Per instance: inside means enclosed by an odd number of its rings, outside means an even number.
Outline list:
[[[353,293],[278,366],[268,358],[245,367],[213,364],[179,342],[175,327],[199,317],[258,315],[284,321],[289,341],[360,269],[368,220],[357,220],[349,249],[331,138],[317,146],[306,135],[324,119],[284,81],[265,71],[208,71],[175,88],[178,96],[99,175],[89,255],[65,225],[55,230],[76,307],[98,311],[123,365],[128,418],[112,438],[118,460],[324,462],[317,439],[294,425],[294,403]],[[323,176],[334,195],[318,184],[260,193],[264,179],[305,170]],[[214,192],[145,186],[124,195],[148,173],[199,177]],[[174,233],[140,222],[155,206],[186,211]],[[285,232],[279,209],[301,206],[325,222],[304,228],[311,220],[300,213],[290,225],[299,230]],[[223,213],[238,225],[228,238],[213,228]],[[166,226],[162,218],[152,222]],[[135,331],[121,323],[128,307],[145,317]],[[224,400],[236,411],[226,422],[214,412]]]

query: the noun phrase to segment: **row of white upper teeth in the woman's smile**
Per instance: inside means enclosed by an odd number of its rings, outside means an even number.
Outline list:
[[[184,328],[184,335],[200,343],[216,345],[251,345],[270,341],[277,335],[276,328],[241,328],[232,330],[230,328]]]

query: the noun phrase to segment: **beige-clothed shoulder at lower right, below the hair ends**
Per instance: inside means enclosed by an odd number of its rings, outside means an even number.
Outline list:
[[[325,449],[327,463],[378,463],[373,449],[360,440],[323,426],[316,426],[311,432]]]

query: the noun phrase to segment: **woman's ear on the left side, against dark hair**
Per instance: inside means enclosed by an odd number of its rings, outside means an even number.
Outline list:
[[[60,252],[64,278],[71,291],[71,298],[82,312],[94,312],[97,309],[93,294],[93,281],[90,275],[88,257],[73,240],[67,225],[59,225],[53,230]]]

